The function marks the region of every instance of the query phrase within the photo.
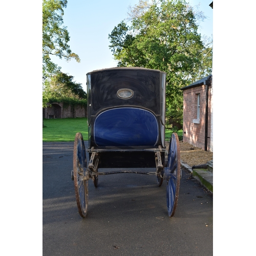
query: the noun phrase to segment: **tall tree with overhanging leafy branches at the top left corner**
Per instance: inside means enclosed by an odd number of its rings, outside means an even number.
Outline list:
[[[74,58],[80,62],[79,56],[73,53],[68,45],[69,32],[63,26],[63,8],[67,0],[43,0],[42,2],[42,70],[44,79],[60,70],[51,61],[51,55],[63,57],[67,61]]]

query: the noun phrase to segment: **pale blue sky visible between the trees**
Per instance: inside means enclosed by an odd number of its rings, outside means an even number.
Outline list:
[[[200,23],[199,32],[212,34],[213,9],[211,0],[189,0],[191,6],[198,6],[207,18]],[[53,57],[52,60],[61,67],[61,71],[74,76],[74,81],[82,83],[86,91],[86,74],[90,71],[117,66],[109,49],[108,36],[115,26],[127,18],[128,7],[139,0],[68,0],[64,9],[63,22],[70,35],[70,48],[78,54],[81,62],[69,62]]]

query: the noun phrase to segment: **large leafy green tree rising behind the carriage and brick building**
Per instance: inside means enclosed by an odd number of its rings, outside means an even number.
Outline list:
[[[120,67],[166,72],[166,117],[182,124],[180,88],[211,72],[212,49],[197,32],[203,16],[184,0],[140,0],[130,14],[130,26],[122,21],[109,34],[114,58]]]

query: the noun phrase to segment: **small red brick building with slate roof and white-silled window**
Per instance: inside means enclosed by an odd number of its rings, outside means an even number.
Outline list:
[[[207,76],[183,91],[183,141],[213,152],[212,76]]]

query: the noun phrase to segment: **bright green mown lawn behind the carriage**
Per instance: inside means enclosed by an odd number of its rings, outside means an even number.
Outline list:
[[[44,119],[42,129],[43,142],[74,141],[76,133],[81,133],[84,140],[88,140],[87,118]],[[182,130],[178,132],[182,136]],[[165,130],[165,140],[169,141],[172,131]]]

